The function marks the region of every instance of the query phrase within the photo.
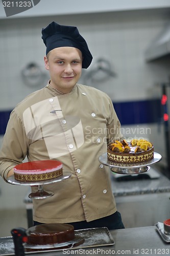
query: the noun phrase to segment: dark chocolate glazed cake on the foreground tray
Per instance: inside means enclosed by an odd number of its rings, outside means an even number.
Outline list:
[[[65,243],[75,238],[74,226],[69,224],[41,224],[27,229],[29,245]]]

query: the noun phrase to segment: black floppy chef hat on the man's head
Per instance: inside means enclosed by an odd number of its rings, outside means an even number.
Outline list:
[[[42,39],[46,46],[46,54],[58,47],[75,47],[82,52],[82,68],[87,69],[90,66],[92,55],[85,39],[79,34],[77,27],[63,26],[52,22],[42,29]]]

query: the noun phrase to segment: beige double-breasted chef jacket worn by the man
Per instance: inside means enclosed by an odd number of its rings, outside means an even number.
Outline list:
[[[111,99],[76,84],[61,94],[50,82],[12,111],[0,153],[0,174],[22,162],[56,159],[70,178],[44,185],[54,196],[33,199],[33,219],[65,223],[103,218],[116,211],[110,172],[99,162],[107,144],[121,138]],[[37,187],[32,187],[36,191]]]

